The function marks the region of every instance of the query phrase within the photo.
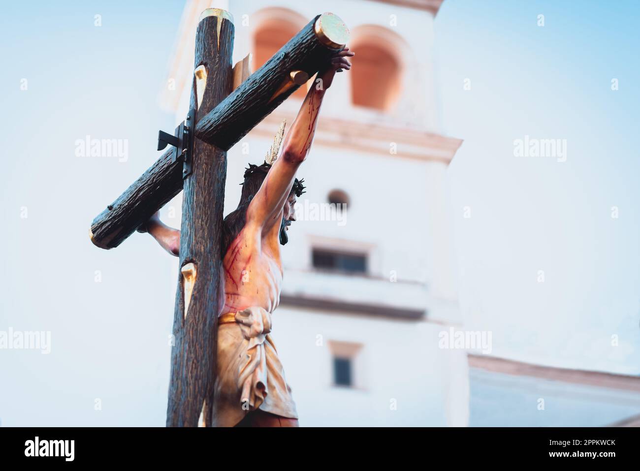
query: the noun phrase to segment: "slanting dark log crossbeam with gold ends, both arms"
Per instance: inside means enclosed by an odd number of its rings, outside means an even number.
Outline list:
[[[317,15],[220,104],[206,115],[198,110],[196,137],[228,150],[316,74],[333,52],[344,48],[348,37],[349,31],[339,17],[333,13]],[[209,79],[205,77],[204,81]],[[195,86],[198,83],[202,79],[196,77]],[[93,244],[104,249],[117,247],[180,192],[183,164],[176,152],[175,148],[165,152],[96,216],[90,229]]]

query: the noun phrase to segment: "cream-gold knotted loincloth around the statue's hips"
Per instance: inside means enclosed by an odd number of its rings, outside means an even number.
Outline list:
[[[258,307],[218,319],[214,427],[233,427],[256,409],[298,419],[270,331],[271,314]]]

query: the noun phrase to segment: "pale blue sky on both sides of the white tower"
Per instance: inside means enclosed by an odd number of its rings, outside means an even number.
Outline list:
[[[436,17],[442,125],[465,140],[447,174],[460,301],[468,328],[493,331],[494,355],[638,374],[639,7],[577,3],[446,0]],[[157,98],[183,3],[30,5],[0,17],[0,330],[55,335],[51,355],[0,356],[12,384],[0,420],[161,426],[175,292],[157,287],[175,262],[142,237],[116,259],[87,230],[156,159],[157,130],[175,127]],[[128,140],[127,161],[77,157],[86,135]],[[525,135],[566,140],[566,162],[514,157]]]

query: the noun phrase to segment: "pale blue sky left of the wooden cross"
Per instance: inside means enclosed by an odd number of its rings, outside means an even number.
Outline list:
[[[5,426],[164,425],[172,316],[163,308],[175,291],[158,286],[173,284],[175,262],[132,238],[122,269],[113,252],[92,246],[88,226],[157,158],[158,129],[175,127],[157,98],[183,7],[3,6],[0,330],[52,332],[49,355],[0,355],[3,385],[12,385],[0,388]],[[128,140],[127,161],[77,157],[76,140],[86,135]],[[141,303],[139,315],[129,314]]]

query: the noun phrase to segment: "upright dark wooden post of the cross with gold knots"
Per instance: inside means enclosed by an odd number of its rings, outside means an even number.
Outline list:
[[[230,13],[218,8],[205,10],[196,31],[189,106],[196,109],[196,122],[232,91],[233,42]],[[173,317],[175,344],[166,416],[167,426],[178,427],[197,426],[201,415],[204,425],[211,425],[216,324],[224,299],[220,243],[227,152],[194,138],[191,164],[192,173],[184,180],[182,196],[180,272]]]

